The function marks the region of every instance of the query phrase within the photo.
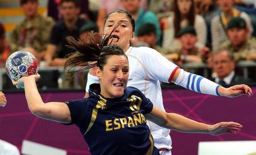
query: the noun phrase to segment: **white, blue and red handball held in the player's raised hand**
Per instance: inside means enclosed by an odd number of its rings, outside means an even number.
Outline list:
[[[38,62],[27,51],[17,51],[11,54],[6,61],[6,73],[12,80],[19,80],[21,77],[36,74],[38,72]]]

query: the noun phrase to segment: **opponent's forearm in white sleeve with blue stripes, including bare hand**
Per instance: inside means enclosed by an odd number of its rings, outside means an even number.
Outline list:
[[[247,85],[234,85],[224,88],[215,82],[211,82],[207,78],[201,77],[194,73],[189,73],[183,69],[177,69],[174,72],[171,82],[180,85],[189,90],[203,94],[213,94],[218,96],[236,97],[242,94],[252,96],[252,89]]]

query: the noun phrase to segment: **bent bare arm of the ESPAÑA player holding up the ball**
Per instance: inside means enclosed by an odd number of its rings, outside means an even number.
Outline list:
[[[70,111],[66,103],[50,102],[44,103],[38,89],[36,80],[40,78],[39,74],[22,77],[17,82],[12,80],[17,88],[24,88],[28,108],[32,114],[42,118],[53,120],[55,122],[70,123]]]

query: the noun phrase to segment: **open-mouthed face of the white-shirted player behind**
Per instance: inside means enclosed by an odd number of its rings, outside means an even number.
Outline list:
[[[116,27],[116,25],[119,26]],[[118,45],[123,50],[129,48],[130,41],[134,40],[134,32],[132,24],[125,14],[116,12],[109,15],[105,23],[104,34],[109,35],[111,31],[113,31],[112,35],[116,36],[112,44]]]

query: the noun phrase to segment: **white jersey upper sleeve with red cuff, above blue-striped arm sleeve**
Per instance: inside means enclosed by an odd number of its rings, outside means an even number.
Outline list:
[[[170,83],[174,72],[179,68],[176,64],[169,61],[155,49],[145,48],[141,51],[141,58],[147,69],[150,79],[160,80]]]

